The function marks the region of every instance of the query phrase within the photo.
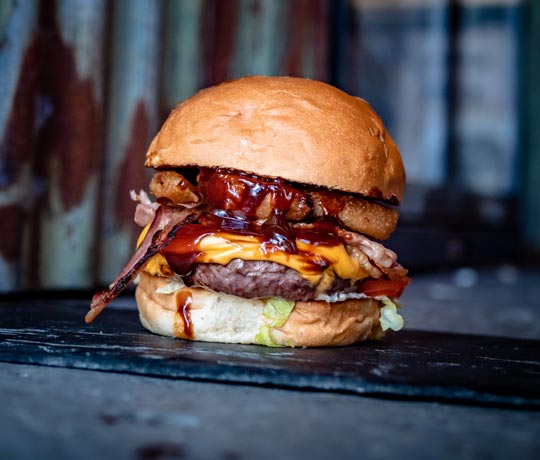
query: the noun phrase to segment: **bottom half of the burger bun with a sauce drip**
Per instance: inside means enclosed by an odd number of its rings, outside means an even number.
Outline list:
[[[382,302],[375,299],[297,301],[288,317],[276,320],[268,314],[268,299],[176,287],[169,278],[141,273],[135,297],[149,331],[206,342],[292,347],[350,345],[383,335]]]

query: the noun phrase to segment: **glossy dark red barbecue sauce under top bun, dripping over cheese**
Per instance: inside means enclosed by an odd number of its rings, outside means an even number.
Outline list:
[[[185,225],[174,240],[161,250],[175,273],[189,275],[201,256],[199,243],[207,236],[230,233],[256,239],[263,253],[281,251],[298,254],[297,241],[312,246],[340,244],[337,223],[330,218],[310,224],[290,224],[286,214],[293,203],[307,202],[307,194],[293,188],[281,179],[264,179],[258,176],[221,169],[201,168],[198,192],[203,197],[206,212],[197,224]],[[263,201],[270,200],[271,213],[266,219],[257,219],[257,209]],[[341,205],[329,200],[332,211]],[[320,258],[306,258],[314,271],[324,269],[328,262]]]

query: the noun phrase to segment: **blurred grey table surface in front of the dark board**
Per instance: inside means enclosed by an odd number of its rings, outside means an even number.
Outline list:
[[[538,411],[81,369],[0,363],[0,403],[10,460],[536,460],[540,450]]]

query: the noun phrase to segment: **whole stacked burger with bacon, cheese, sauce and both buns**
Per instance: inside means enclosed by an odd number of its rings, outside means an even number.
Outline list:
[[[132,281],[156,334],[340,346],[399,330],[409,283],[380,241],[405,171],[364,100],[292,77],[245,77],[179,104],[153,139],[138,247],[86,321]]]

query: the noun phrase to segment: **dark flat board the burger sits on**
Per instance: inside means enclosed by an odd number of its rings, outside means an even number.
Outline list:
[[[136,312],[118,308],[86,326],[85,311],[80,300],[0,302],[0,361],[540,407],[536,340],[406,330],[352,347],[272,349],[159,337],[140,326]]]

